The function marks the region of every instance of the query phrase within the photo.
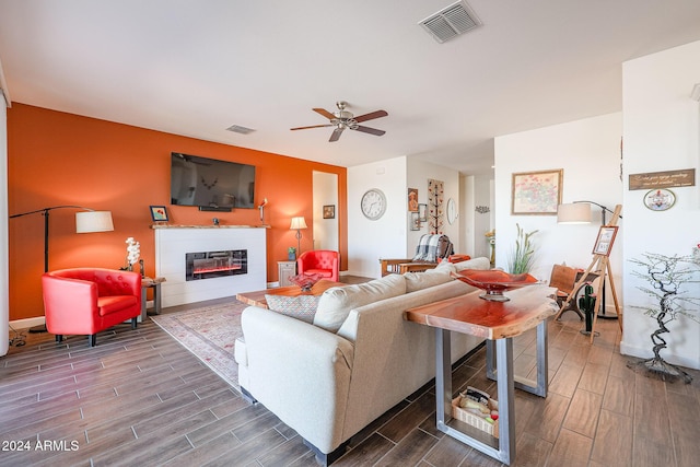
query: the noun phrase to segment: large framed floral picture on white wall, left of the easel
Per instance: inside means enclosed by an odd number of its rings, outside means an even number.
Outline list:
[[[513,174],[511,214],[557,215],[563,168]]]

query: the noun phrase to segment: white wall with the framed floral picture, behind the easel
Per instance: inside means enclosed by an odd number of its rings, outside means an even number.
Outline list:
[[[590,200],[614,209],[622,201],[621,135],[622,116],[616,113],[495,139],[497,267],[508,268],[516,223],[526,232],[539,231],[532,237],[537,259],[530,272],[538,279],[549,280],[555,264],[583,269],[590,266],[600,225],[599,208],[593,207],[591,224],[560,225],[557,215],[511,215],[512,175],[563,168],[562,202]],[[620,222],[620,231],[625,229]],[[617,242],[610,256],[616,290],[622,282],[621,262],[622,243]],[[606,307],[614,310],[612,300],[606,301]]]

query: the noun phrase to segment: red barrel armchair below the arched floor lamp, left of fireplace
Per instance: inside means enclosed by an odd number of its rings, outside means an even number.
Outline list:
[[[88,335],[94,347],[97,332],[141,314],[141,275],[102,268],[74,268],[42,276],[46,329],[56,335]]]

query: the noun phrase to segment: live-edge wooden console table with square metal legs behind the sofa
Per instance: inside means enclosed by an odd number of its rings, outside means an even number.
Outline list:
[[[407,320],[435,328],[435,399],[438,430],[504,464],[515,460],[514,390],[547,396],[547,318],[559,311],[557,289],[528,285],[508,292],[509,302],[480,299],[481,291],[406,311]],[[515,383],[513,337],[537,327],[537,382]],[[452,365],[450,332],[457,331],[487,339],[487,376],[498,382],[499,439],[477,434],[476,428],[452,418]],[[493,346],[495,364],[493,370]],[[467,434],[469,430],[475,436]],[[483,441],[482,441],[483,440]]]

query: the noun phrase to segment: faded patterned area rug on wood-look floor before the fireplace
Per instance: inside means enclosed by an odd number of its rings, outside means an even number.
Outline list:
[[[151,319],[231,386],[241,390],[238,365],[233,352],[236,338],[243,334],[241,314],[246,306],[234,300],[221,305],[151,316]]]

